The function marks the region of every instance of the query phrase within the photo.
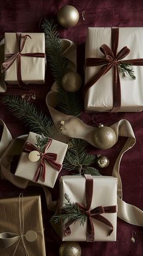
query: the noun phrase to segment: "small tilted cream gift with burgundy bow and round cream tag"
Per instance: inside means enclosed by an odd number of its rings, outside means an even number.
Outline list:
[[[48,138],[48,143],[41,151],[36,146],[39,136],[33,132],[29,133],[15,175],[53,188],[68,145]]]

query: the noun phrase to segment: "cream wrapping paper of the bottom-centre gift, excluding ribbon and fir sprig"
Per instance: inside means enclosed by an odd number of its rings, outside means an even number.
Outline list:
[[[98,219],[91,217],[94,227],[94,238],[93,241],[116,241],[116,221],[117,221],[117,179],[110,176],[91,176],[93,177],[93,194],[91,198],[90,210],[96,207],[113,207],[114,213],[101,213],[99,218],[106,218],[113,225],[113,232],[108,235],[110,227]],[[68,195],[71,204],[78,202],[87,207],[86,194],[85,194],[85,177],[84,176],[63,176],[60,179],[60,208],[64,210],[65,199],[64,194]],[[79,186],[80,184],[80,186]],[[87,188],[90,190],[91,185]],[[110,207],[109,207],[110,206]],[[87,210],[87,209],[86,209]],[[85,212],[86,212],[85,210]],[[108,211],[110,212],[110,211]],[[92,214],[92,211],[91,211]],[[70,235],[65,235],[64,225],[65,222],[61,222],[61,238],[62,241],[88,241],[87,240],[87,220],[84,226],[79,221],[74,221],[70,225]]]

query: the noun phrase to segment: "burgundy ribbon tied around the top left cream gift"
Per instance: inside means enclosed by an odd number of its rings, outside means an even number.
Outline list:
[[[12,66],[13,62],[17,60],[17,78],[18,78],[18,85],[19,87],[21,85],[24,85],[22,82],[22,77],[21,77],[21,56],[27,56],[27,57],[37,57],[37,58],[45,58],[44,52],[28,52],[28,53],[22,53],[22,50],[24,49],[25,41],[30,35],[24,35],[24,39],[21,43],[21,38],[22,35],[21,33],[16,33],[16,42],[18,44],[18,52],[15,54],[5,54],[5,57],[8,57],[8,59],[2,63],[2,72],[6,71],[10,66]]]

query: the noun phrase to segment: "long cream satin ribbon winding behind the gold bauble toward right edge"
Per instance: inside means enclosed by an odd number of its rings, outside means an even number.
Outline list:
[[[68,51],[70,51],[69,48]],[[75,63],[75,58],[72,59],[72,55],[70,57],[70,62]],[[81,119],[76,118],[75,116],[65,115],[64,113],[61,113],[55,109],[56,105],[58,104],[58,87],[56,82],[52,85],[51,90],[47,94],[46,103],[57,130],[61,120],[65,121],[66,130],[63,131],[63,137],[81,138],[96,147],[96,144],[93,140],[93,134],[98,128],[87,126],[81,121]],[[133,129],[127,120],[123,119],[110,127],[115,130],[116,142],[118,141],[118,136],[128,137],[116,160],[112,173],[112,176],[117,177],[118,179],[118,217],[130,224],[143,226],[142,210],[135,207],[134,205],[127,204],[122,200],[122,182],[119,175],[119,166],[122,155],[128,151],[128,149],[133,147],[133,145],[136,143],[136,138],[133,133]]]

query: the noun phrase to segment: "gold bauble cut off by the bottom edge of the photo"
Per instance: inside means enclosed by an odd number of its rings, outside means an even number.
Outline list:
[[[59,256],[81,256],[81,246],[76,242],[63,242],[59,247]]]

